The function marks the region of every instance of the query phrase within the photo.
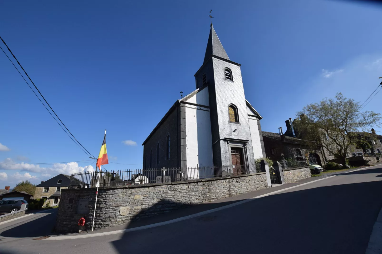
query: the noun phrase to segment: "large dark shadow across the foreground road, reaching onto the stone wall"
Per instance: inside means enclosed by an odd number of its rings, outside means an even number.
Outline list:
[[[364,253],[382,206],[382,181],[306,188],[254,199],[201,217],[126,232],[111,243],[121,254]],[[201,206],[214,208],[214,204]],[[155,204],[134,219],[142,219],[144,224],[148,211],[160,209],[161,204]]]

